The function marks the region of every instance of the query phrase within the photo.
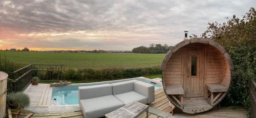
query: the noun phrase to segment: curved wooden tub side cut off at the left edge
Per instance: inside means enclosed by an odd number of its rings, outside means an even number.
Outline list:
[[[3,118],[5,115],[7,77],[8,75],[6,73],[0,72],[0,118]]]

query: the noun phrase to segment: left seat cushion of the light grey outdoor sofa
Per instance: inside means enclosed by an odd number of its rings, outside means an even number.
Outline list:
[[[103,96],[92,99],[83,99],[79,101],[83,115],[86,118],[102,117],[106,113],[112,112],[124,104],[113,95]]]

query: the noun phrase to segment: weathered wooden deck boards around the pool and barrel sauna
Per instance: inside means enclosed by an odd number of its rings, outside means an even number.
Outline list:
[[[30,85],[26,90],[31,99],[30,108],[36,108],[38,112],[32,115],[32,117],[83,117],[83,114],[79,107],[75,106],[58,106],[50,102],[52,87],[49,84],[39,84],[37,86]],[[38,95],[41,95],[38,97]],[[149,117],[247,117],[247,111],[243,108],[230,109],[216,108],[205,113],[200,114],[185,114],[176,113],[172,115],[169,106],[169,101],[165,96],[163,89],[155,92],[155,101],[150,103]],[[74,108],[75,107],[75,108]],[[27,109],[30,109],[27,108]],[[47,111],[48,110],[67,110],[67,111]],[[72,111],[73,109],[73,111]],[[32,110],[32,109],[31,109]],[[24,110],[25,113],[20,114],[19,117],[25,117],[31,111]]]

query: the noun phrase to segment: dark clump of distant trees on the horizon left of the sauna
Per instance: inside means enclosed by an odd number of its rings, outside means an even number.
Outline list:
[[[152,54],[162,54],[167,53],[173,46],[168,46],[167,44],[150,44],[150,46],[138,46],[132,50],[132,53],[152,53]]]

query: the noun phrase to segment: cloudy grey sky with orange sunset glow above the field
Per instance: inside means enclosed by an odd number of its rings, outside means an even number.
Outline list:
[[[255,0],[0,1],[0,49],[125,50],[175,45],[208,22],[242,17]]]

